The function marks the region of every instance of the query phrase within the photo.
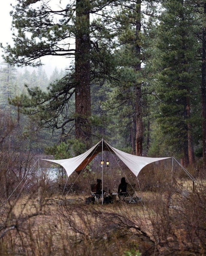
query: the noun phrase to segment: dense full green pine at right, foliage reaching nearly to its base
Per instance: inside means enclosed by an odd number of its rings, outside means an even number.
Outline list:
[[[199,84],[195,14],[187,1],[165,1],[157,30],[154,65],[159,74],[156,95],[159,123],[167,144],[182,156],[182,163],[194,163],[192,127]],[[193,111],[193,112],[192,112]]]

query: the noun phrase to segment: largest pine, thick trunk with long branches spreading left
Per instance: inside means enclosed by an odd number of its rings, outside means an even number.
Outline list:
[[[87,141],[89,144],[91,140],[89,122],[91,51],[101,50],[99,48],[101,44],[95,42],[93,37],[94,31],[99,29],[98,23],[93,21],[90,26],[90,14],[98,15],[100,12],[102,15],[108,6],[112,8],[115,2],[117,1],[76,0],[76,3],[70,1],[66,6],[51,8],[49,2],[44,0],[38,3],[18,0],[12,13],[13,28],[18,30],[17,35],[14,33],[14,47],[8,45],[4,48],[7,54],[6,61],[19,66],[41,65],[41,57],[47,55],[75,59],[73,72],[52,85],[47,95],[40,90],[29,90],[33,100],[25,101],[22,96],[25,102],[23,105],[32,107],[33,104],[37,108],[34,112],[45,112],[45,114],[40,113],[39,116],[42,118],[42,123],[48,122],[47,126],[53,126],[52,129],[58,127],[64,131],[66,125],[75,120],[76,138]],[[74,38],[75,48],[73,47]],[[64,100],[61,98],[62,93]],[[73,94],[75,94],[75,115],[71,117],[65,113],[69,113],[69,101]],[[42,106],[38,107],[39,105]],[[60,113],[61,118],[57,117]]]

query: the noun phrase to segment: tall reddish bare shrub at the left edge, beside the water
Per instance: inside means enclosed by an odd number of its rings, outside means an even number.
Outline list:
[[[3,115],[0,112],[0,116]],[[23,127],[20,123],[14,122],[7,115],[3,115],[0,121],[0,185],[1,198],[8,198],[14,192],[14,196],[23,189],[25,175],[34,164],[34,156],[36,153],[35,136],[36,131],[33,126]],[[30,129],[31,128],[31,129]],[[29,177],[30,183],[25,184],[24,188],[29,190],[32,186],[32,175]]]

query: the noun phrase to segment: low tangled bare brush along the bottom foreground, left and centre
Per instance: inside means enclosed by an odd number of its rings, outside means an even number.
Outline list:
[[[81,206],[62,207],[58,219],[45,210],[41,224],[35,223],[33,215],[7,230],[0,240],[2,255],[123,255],[130,249],[149,255],[154,251],[154,242],[138,225],[140,218],[130,219],[127,210],[108,213],[93,208],[85,211]]]

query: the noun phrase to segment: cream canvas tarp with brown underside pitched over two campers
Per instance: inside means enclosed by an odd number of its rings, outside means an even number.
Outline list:
[[[74,171],[80,173],[91,161],[95,158],[95,156],[103,151],[109,151],[110,153],[116,154],[119,159],[122,160],[123,163],[135,174],[139,174],[141,169],[150,163],[168,159],[171,157],[144,157],[144,156],[136,156],[120,151],[112,146],[110,146],[106,141],[101,140],[95,146],[90,148],[85,153],[61,160],[51,160],[51,159],[42,159],[45,161],[53,162],[63,166],[63,168],[67,172],[67,176],[69,177]]]

